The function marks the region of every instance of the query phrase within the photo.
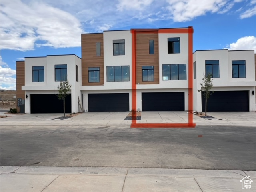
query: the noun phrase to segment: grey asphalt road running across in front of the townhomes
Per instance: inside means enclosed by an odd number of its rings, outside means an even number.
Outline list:
[[[1,126],[1,166],[256,170],[256,128]]]

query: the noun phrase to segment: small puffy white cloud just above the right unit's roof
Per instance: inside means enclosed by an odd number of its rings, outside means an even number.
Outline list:
[[[229,50],[253,50],[256,53],[256,37],[246,36],[241,37],[235,43],[227,46]]]

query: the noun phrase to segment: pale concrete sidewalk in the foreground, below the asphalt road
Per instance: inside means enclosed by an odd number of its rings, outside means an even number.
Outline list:
[[[251,189],[242,189],[250,176]],[[255,191],[256,172],[120,167],[1,167],[1,192],[7,191]]]

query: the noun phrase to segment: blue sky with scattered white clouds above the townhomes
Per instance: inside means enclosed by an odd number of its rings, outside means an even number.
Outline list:
[[[193,51],[256,50],[256,0],[1,0],[0,88],[16,60],[76,54],[81,33],[193,26]]]

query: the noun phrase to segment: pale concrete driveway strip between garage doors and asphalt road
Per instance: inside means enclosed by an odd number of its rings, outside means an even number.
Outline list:
[[[1,125],[130,125],[124,120],[129,112],[86,112],[68,119],[56,119],[63,114],[23,114],[1,118]],[[204,119],[193,114],[197,126],[256,126],[255,112],[208,112],[215,119]],[[184,111],[141,112],[137,123],[188,123]]]

